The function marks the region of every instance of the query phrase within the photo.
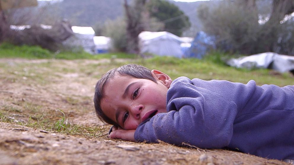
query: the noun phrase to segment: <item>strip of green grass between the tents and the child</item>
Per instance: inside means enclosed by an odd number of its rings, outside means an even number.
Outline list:
[[[229,56],[222,52],[211,52],[204,59],[178,59],[174,57],[159,57],[155,56],[149,59],[138,58],[135,54],[126,53],[108,53],[91,55],[86,52],[60,52],[52,53],[46,49],[42,49],[39,46],[14,46],[9,43],[1,43],[0,45],[0,58],[25,58],[25,59],[112,59],[110,63],[103,64],[90,64],[89,66],[82,66],[79,68],[70,68],[68,66],[63,68],[57,68],[52,70],[54,72],[86,72],[89,75],[95,73],[95,70],[99,67],[101,74],[108,69],[118,67],[127,63],[137,63],[148,67],[149,69],[159,69],[166,72],[172,79],[179,76],[186,76],[189,78],[201,78],[204,80],[219,79],[229,80],[233,82],[247,83],[253,79],[258,85],[262,84],[276,84],[279,86],[293,84],[293,76],[289,73],[276,74],[269,69],[236,69],[229,67],[225,64],[224,59],[228,59]],[[130,59],[125,62],[117,62],[115,59]],[[5,67],[5,66],[3,66]],[[25,67],[25,66],[22,66]],[[40,64],[41,67],[52,66],[50,62],[45,65]],[[34,68],[34,70],[36,70]],[[20,71],[22,72],[22,71]],[[34,71],[38,75],[37,70]],[[48,72],[48,75],[52,73]],[[30,75],[25,73],[20,76],[30,78]],[[95,76],[95,75],[94,75]],[[100,77],[100,75],[97,75]],[[42,81],[44,76],[34,76],[35,80]]]

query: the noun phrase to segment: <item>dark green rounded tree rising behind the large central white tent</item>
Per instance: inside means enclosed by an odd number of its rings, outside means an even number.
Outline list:
[[[163,0],[149,1],[148,11],[151,17],[165,24],[164,30],[181,36],[184,30],[190,28],[189,18],[174,4]]]

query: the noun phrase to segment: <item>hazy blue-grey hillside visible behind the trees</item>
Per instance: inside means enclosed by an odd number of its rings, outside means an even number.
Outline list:
[[[175,2],[171,3],[177,5],[190,19],[194,31],[202,29],[202,24],[197,17],[197,8],[199,5],[215,4],[216,2]],[[54,3],[51,8],[58,8],[60,17],[70,20],[72,25],[78,26],[94,26],[98,23],[103,23],[107,19],[114,20],[124,14],[123,0],[63,0],[59,3]],[[39,1],[39,4],[44,2]]]

